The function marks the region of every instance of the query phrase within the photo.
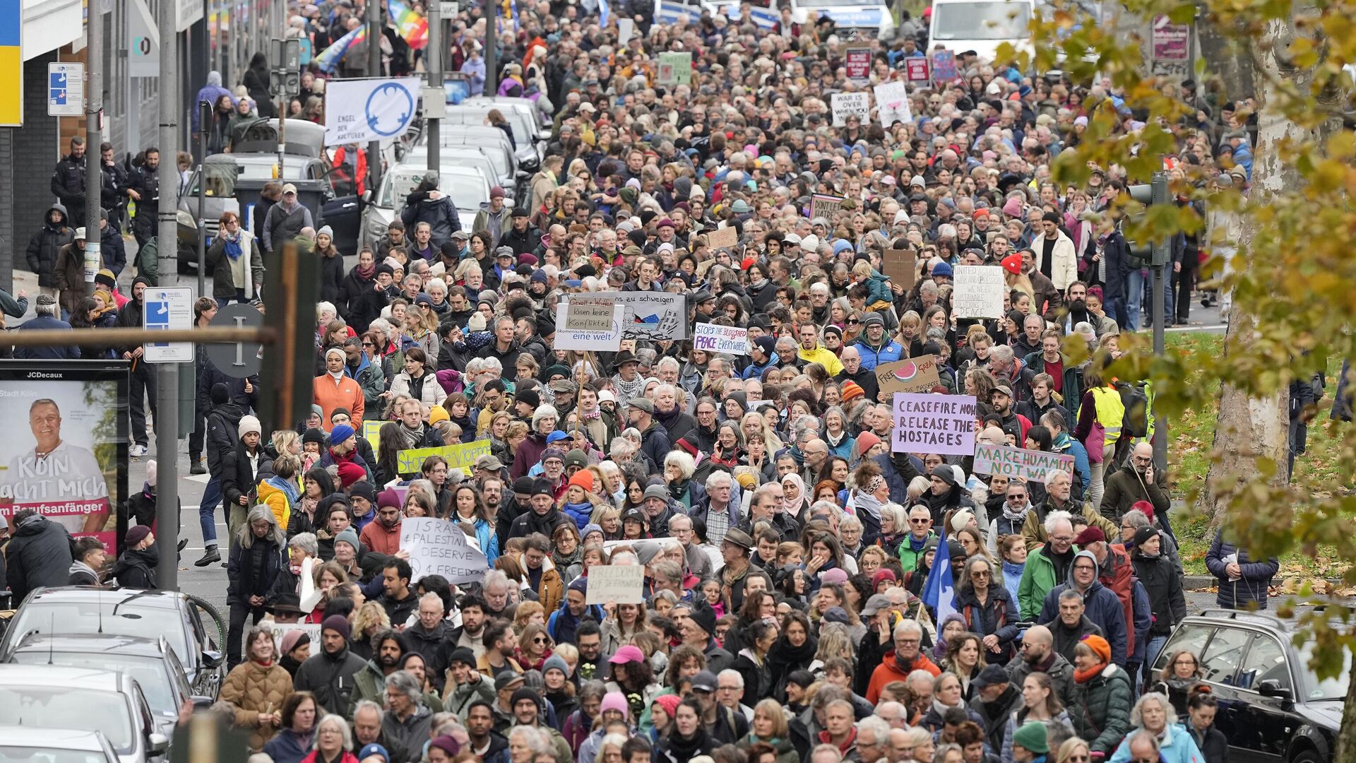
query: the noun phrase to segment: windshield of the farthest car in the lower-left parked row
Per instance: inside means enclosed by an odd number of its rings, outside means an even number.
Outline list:
[[[117,608],[117,614],[114,612]],[[188,649],[183,619],[171,607],[137,607],[127,599],[121,607],[114,601],[27,601],[15,615],[9,630],[15,634],[42,635],[136,635],[156,639],[164,637],[180,661],[191,663],[197,654]]]

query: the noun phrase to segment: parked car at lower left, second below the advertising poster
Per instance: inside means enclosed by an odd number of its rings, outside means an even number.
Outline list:
[[[183,665],[164,638],[30,634],[8,661],[15,665],[66,665],[127,673],[137,679],[165,736],[172,736],[186,702],[209,707],[216,701],[214,696],[193,695]]]

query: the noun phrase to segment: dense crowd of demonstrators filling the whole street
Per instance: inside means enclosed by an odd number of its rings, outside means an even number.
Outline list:
[[[1051,181],[1094,113],[1143,128],[1120,94],[956,50],[955,81],[910,83],[907,119],[841,119],[831,95],[861,86],[827,16],[784,8],[763,29],[746,4],[666,24],[650,3],[598,5],[513,5],[488,73],[480,5],[450,22],[449,71],[533,99],[551,134],[541,170],[473,220],[435,174],[358,251],[285,182],[251,225],[222,217],[198,324],[259,304],[260,263],[287,240],[321,261],[323,300],[315,405],[294,426],[266,430],[258,379],[198,360],[197,563],[229,580],[222,718],[275,763],[1227,762],[1196,656],[1159,660],[1186,607],[1153,390],[1109,371],[1151,303],[1116,215],[1125,172]],[[317,52],[363,18],[361,3],[293,7],[289,34]],[[393,23],[380,42],[389,72],[423,65]],[[932,49],[907,14],[853,45],[872,49],[872,84]],[[660,52],[690,53],[690,80],[660,83]],[[304,72],[289,113],[315,115],[327,73]],[[229,148],[266,83],[212,80],[218,113],[198,129]],[[1174,179],[1246,190],[1252,100],[1163,90],[1188,106]],[[159,198],[159,153],[140,162],[106,183],[113,198]],[[94,297],[60,276],[84,235],[66,217],[83,220],[81,167],[58,168],[62,204],[28,247],[50,291],[39,315],[136,324],[118,311],[140,316],[145,280],[127,303],[122,262]],[[1196,210],[1229,240],[1229,212]],[[712,246],[728,229],[735,243]],[[1172,242],[1168,324],[1218,301],[1195,282],[1207,236]],[[899,250],[911,267],[887,266]],[[952,310],[955,267],[975,265],[1002,274],[998,318]],[[557,304],[609,292],[682,295],[686,327],[555,349]],[[747,352],[696,349],[698,323],[746,329]],[[910,358],[937,371],[925,392],[975,398],[976,444],[1073,470],[1024,479],[894,451],[876,371]],[[136,455],[153,382],[132,388]],[[400,458],[484,441],[464,468]],[[415,578],[408,517],[452,520],[484,576]],[[155,538],[126,540],[117,569],[133,574]],[[72,559],[83,582],[95,546]],[[641,566],[641,600],[591,603],[599,565]],[[1222,606],[1265,607],[1275,559],[1216,538],[1207,565]],[[270,623],[320,637],[279,642]]]

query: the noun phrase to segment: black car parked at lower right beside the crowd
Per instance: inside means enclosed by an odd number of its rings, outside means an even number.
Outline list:
[[[1295,646],[1294,633],[1294,622],[1265,612],[1205,610],[1177,625],[1154,676],[1180,650],[1196,656],[1233,760],[1326,763],[1337,751],[1348,668],[1319,679],[1309,668],[1313,642]],[[1349,665],[1349,652],[1345,658]]]

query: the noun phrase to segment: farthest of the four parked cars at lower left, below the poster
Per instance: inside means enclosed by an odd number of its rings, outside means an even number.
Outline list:
[[[203,615],[214,627],[209,630]],[[113,634],[161,638],[174,649],[184,680],[198,696],[217,696],[226,677],[225,620],[217,610],[174,591],[107,591],[100,588],[39,588],[14,614],[0,639],[0,661],[34,634]]]

